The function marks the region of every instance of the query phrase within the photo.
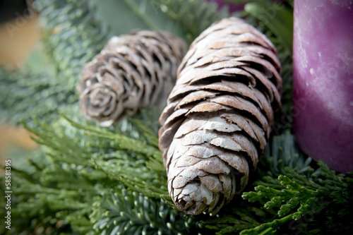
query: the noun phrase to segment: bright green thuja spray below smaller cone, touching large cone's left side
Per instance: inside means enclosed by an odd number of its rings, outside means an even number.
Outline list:
[[[143,115],[152,113],[150,110]],[[152,191],[150,184],[155,185],[155,192],[167,195],[162,154],[157,147],[148,144],[148,139],[144,140],[144,134],[139,135],[136,131],[141,124],[138,121],[126,121],[107,129],[85,121],[82,116],[75,121],[63,116],[51,125],[37,121],[37,128],[23,123],[25,128],[35,134],[37,143],[49,147],[47,154],[58,164],[96,169],[115,180],[126,179],[124,182],[142,187],[140,190],[145,193]],[[147,123],[144,125],[148,130]],[[156,135],[152,129],[149,132]],[[63,148],[63,145],[66,147]]]

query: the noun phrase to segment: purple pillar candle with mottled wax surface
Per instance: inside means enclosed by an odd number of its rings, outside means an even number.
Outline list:
[[[293,118],[297,145],[353,171],[353,1],[294,1]]]

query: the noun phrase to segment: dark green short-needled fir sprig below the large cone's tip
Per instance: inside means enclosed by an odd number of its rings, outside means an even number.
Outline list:
[[[95,205],[103,216],[93,226],[101,234],[190,234],[195,227],[192,217],[141,193],[122,189],[103,198]]]

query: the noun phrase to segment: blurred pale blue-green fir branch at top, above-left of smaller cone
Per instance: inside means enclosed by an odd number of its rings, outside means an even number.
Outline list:
[[[107,29],[88,0],[37,0],[34,5],[41,11],[43,41],[57,77],[73,90],[83,64],[107,42]]]

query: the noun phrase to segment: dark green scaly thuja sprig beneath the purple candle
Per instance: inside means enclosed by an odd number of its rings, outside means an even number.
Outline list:
[[[321,161],[318,166],[321,173],[316,182],[300,175],[294,169],[285,167],[286,175],[280,175],[275,180],[265,176],[262,181],[256,182],[258,186],[255,191],[243,193],[242,197],[249,202],[261,201],[266,210],[278,208],[277,215],[280,219],[241,231],[241,234],[273,234],[290,219],[297,221],[304,215],[315,217],[314,215],[322,211],[331,215],[332,212],[327,210],[329,207],[340,208],[340,214],[336,219],[326,222],[325,226],[330,227],[335,220],[349,221],[353,215],[352,210],[347,208],[347,205],[353,204],[352,179],[344,174],[336,174]],[[341,232],[347,233],[352,228],[351,221],[348,227],[341,228]]]

